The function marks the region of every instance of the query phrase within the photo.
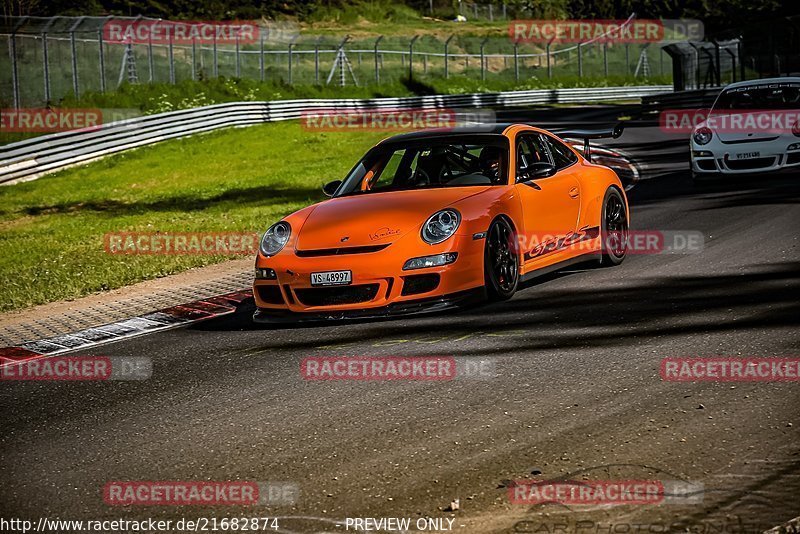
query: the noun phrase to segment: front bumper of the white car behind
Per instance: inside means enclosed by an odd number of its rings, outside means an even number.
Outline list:
[[[800,141],[796,137],[794,140],[794,142]],[[692,170],[697,174],[750,174],[800,167],[800,150],[786,150],[789,144],[785,141],[736,144],[716,141],[709,145],[698,145],[692,141],[690,144]],[[737,158],[738,154],[753,153],[758,153],[758,157]]]

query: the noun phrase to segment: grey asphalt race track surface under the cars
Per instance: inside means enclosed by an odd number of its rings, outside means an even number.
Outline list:
[[[446,517],[478,533],[761,532],[800,515],[800,383],[659,376],[665,357],[800,353],[798,176],[694,187],[685,138],[640,123],[611,144],[642,164],[632,228],[700,231],[701,252],[581,265],[458,314],[264,328],[243,305],[92,353],[150,357],[146,381],[3,383],[2,515],[281,516],[282,532]],[[494,376],[301,377],[304,357],[342,355],[489,358]],[[515,479],[584,477],[704,492],[680,505],[509,501]],[[102,492],[113,480],[288,481],[300,496],[112,507]]]

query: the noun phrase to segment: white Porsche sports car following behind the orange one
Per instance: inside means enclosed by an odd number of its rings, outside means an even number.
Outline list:
[[[800,78],[736,82],[690,138],[692,178],[800,171]]]

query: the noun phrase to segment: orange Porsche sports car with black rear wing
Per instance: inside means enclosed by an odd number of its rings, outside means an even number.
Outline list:
[[[385,317],[475,298],[588,255],[626,253],[628,202],[617,175],[523,124],[426,130],[386,139],[331,198],[272,225],[253,286],[256,322]]]

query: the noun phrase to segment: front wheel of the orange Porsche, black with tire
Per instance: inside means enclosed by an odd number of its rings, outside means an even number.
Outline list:
[[[490,301],[508,300],[519,287],[519,247],[508,220],[495,219],[486,232],[483,253],[486,295]]]

